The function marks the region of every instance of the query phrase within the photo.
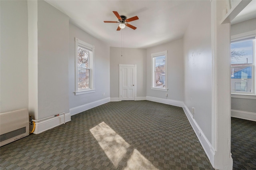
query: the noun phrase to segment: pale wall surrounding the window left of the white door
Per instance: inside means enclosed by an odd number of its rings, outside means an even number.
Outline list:
[[[68,35],[68,34],[67,34]],[[74,95],[75,91],[75,38],[95,46],[94,55],[94,85],[95,93],[82,95]],[[98,40],[80,28],[70,23],[69,25],[69,58],[68,58],[68,81],[69,81],[69,105],[72,115],[91,108],[85,105],[104,100],[105,103],[110,97],[110,47]],[[103,96],[102,93],[105,93]],[[94,104],[94,106],[102,104],[102,102]]]

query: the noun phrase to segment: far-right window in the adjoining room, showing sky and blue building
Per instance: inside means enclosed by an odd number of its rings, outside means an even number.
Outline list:
[[[231,37],[231,93],[255,95],[255,32]]]

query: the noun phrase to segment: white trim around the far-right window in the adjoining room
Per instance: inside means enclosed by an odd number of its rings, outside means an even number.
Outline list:
[[[250,31],[250,32],[245,32],[242,34],[237,34],[234,36],[231,36],[231,43],[236,42],[239,40],[244,40],[247,38],[252,38],[255,37],[254,43],[256,43],[256,30]],[[256,47],[254,44],[254,67],[252,68],[252,77],[254,77],[254,80],[252,81],[252,86],[254,87],[254,93],[243,93],[243,92],[231,92],[231,97],[232,98],[241,98],[241,99],[256,99]],[[231,79],[230,79],[231,81]]]

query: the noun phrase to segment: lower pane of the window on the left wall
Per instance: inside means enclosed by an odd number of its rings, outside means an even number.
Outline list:
[[[90,69],[78,67],[78,90],[90,88]]]

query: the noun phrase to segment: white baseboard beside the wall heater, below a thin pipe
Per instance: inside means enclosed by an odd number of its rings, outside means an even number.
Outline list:
[[[70,113],[65,114],[65,123],[71,121],[71,115]],[[51,128],[57,127],[59,125],[64,124],[64,114],[56,117],[52,117],[43,121],[38,121],[36,123],[36,128],[34,130],[34,134],[42,133],[46,130],[49,130]]]

